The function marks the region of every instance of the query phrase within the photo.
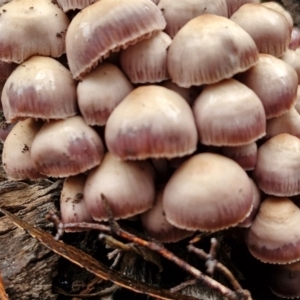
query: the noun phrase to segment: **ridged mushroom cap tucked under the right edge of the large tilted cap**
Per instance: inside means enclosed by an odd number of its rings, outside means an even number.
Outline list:
[[[172,39],[159,31],[149,39],[129,46],[120,53],[122,70],[132,83],[153,83],[169,79],[167,50]]]

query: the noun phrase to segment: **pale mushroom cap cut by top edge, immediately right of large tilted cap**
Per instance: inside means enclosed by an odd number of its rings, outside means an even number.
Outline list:
[[[167,21],[165,32],[173,38],[188,21],[203,14],[223,16],[227,15],[225,0],[160,0],[158,8]]]

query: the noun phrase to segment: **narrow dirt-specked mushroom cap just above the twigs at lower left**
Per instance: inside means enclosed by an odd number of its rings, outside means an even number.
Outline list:
[[[64,180],[60,194],[60,213],[63,224],[93,221],[84,200],[83,190],[85,181],[86,176],[84,174],[71,176]],[[67,229],[66,231],[70,232],[74,230]]]

